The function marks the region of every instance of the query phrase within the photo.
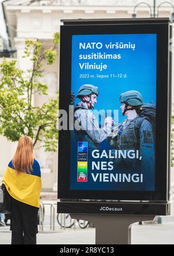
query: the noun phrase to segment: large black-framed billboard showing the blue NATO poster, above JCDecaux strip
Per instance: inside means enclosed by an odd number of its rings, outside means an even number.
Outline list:
[[[109,22],[61,26],[58,196],[167,200],[169,21]]]

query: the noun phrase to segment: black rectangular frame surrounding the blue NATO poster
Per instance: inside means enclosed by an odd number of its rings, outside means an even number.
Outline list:
[[[58,198],[61,200],[169,201],[171,147],[171,28],[168,18],[63,20],[60,28],[60,103],[71,102],[71,36],[74,34],[157,34],[157,132],[155,191],[70,190],[70,131],[59,131]],[[162,116],[161,116],[162,113]]]

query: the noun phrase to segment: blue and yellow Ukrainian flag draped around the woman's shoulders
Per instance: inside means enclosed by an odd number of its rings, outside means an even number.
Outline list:
[[[17,172],[13,168],[12,161],[10,161],[3,174],[2,183],[14,199],[39,208],[42,183],[40,166],[37,160],[34,160],[31,174]]]

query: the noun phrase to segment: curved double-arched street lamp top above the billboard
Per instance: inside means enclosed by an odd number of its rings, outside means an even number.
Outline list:
[[[164,1],[162,3],[160,3],[160,5],[157,6],[157,17],[158,17],[158,9],[161,7],[161,5],[163,5],[164,3],[168,3],[169,5],[172,6],[173,8],[173,12],[172,12],[172,16],[171,16],[171,21],[173,22],[174,21],[174,6],[172,5],[171,2],[168,2],[168,1]],[[133,14],[132,14],[132,18],[136,18],[136,13],[135,13],[135,10],[136,8],[139,6],[139,5],[147,5],[148,8],[150,9],[150,17],[152,18],[155,18],[156,17],[156,14],[155,14],[155,9],[156,9],[156,1],[154,0],[154,5],[153,5],[153,13],[152,13],[152,9],[151,9],[151,6],[146,3],[146,2],[140,2],[140,3],[137,3],[137,5],[135,6],[135,8],[133,9]]]

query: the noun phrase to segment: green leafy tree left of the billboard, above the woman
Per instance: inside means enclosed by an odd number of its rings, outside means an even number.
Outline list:
[[[56,99],[50,99],[42,106],[33,106],[35,93],[48,94],[48,86],[39,81],[43,77],[43,62],[55,63],[59,33],[53,36],[53,47],[44,50],[39,41],[26,40],[23,57],[29,57],[32,68],[23,71],[16,66],[16,60],[2,60],[0,64],[0,134],[15,142],[21,135],[28,135],[35,146],[44,140],[47,151],[57,150],[58,92]],[[40,79],[41,80],[41,79]]]

